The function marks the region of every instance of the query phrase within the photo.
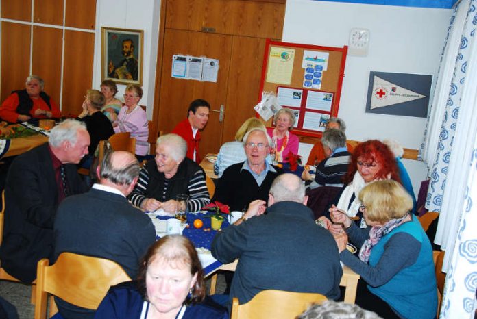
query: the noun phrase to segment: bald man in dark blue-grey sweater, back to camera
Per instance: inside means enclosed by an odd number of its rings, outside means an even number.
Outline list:
[[[338,249],[331,233],[315,224],[307,200],[299,177],[280,175],[266,210],[265,201],[253,201],[243,218],[215,235],[212,255],[223,264],[238,259],[230,301],[247,303],[268,289],[339,297]]]

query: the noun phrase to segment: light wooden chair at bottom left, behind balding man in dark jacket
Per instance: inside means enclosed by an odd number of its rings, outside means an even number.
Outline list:
[[[47,318],[47,296],[87,309],[97,309],[112,285],[130,281],[119,264],[108,259],[61,253],[49,266],[48,259],[38,261],[35,319]],[[50,296],[50,317],[58,311]]]

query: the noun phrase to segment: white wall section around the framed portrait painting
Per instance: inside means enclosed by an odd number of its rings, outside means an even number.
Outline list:
[[[101,27],[144,30],[144,94],[139,103],[147,106],[147,118],[151,120],[158,57],[160,0],[99,0],[96,16],[93,88],[99,89],[101,84]],[[118,85],[118,99],[123,100],[125,87]]]

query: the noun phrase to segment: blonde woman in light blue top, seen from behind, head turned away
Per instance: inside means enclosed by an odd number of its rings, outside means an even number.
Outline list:
[[[258,118],[249,118],[238,128],[238,131],[235,133],[235,140],[233,142],[226,142],[221,146],[219,154],[217,154],[217,161],[214,164],[214,173],[219,178],[222,177],[225,168],[247,159],[242,142],[243,136],[252,129],[263,129],[265,131],[265,125]]]

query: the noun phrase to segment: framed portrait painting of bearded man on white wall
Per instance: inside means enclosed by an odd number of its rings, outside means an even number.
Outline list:
[[[143,84],[143,30],[102,27],[101,80]]]

